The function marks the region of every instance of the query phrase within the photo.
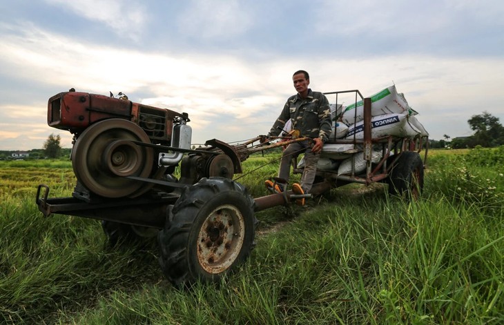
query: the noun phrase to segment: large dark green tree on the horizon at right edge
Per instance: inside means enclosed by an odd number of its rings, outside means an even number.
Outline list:
[[[471,130],[475,131],[472,146],[494,147],[504,144],[504,127],[489,112],[473,115],[468,121]]]

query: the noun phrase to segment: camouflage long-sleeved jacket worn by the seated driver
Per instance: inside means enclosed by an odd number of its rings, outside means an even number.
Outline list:
[[[298,94],[289,97],[269,135],[279,135],[282,132],[280,128],[283,128],[289,119],[292,120],[292,129],[300,130],[301,137],[320,137],[325,142],[331,135],[331,110],[329,101],[322,92],[309,89],[305,99]]]

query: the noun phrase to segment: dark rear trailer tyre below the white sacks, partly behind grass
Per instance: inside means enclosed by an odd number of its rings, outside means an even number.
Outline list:
[[[418,199],[423,190],[423,161],[418,152],[404,151],[389,176],[389,194]]]

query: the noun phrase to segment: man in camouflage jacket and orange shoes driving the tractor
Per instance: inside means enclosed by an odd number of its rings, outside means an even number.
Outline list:
[[[268,137],[278,136],[287,121],[291,119],[292,130],[298,130],[300,137],[311,138],[311,140],[289,144],[282,153],[280,170],[278,171],[278,177],[287,184],[291,172],[291,159],[304,152],[305,164],[301,184],[292,184],[293,193],[304,194],[309,193],[311,186],[313,186],[320,151],[324,142],[331,135],[331,110],[329,109],[329,101],[322,92],[315,92],[308,88],[310,84],[308,72],[304,70],[294,72],[292,81],[298,93],[287,99],[282,112],[269,131]],[[273,188],[271,180],[268,179],[264,183],[266,187]],[[284,190],[285,184],[282,187],[281,185],[275,190]],[[304,205],[304,199],[298,199],[297,203]]]

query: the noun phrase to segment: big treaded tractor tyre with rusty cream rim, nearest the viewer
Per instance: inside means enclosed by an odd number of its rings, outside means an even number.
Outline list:
[[[159,264],[170,282],[217,282],[244,262],[254,246],[254,201],[223,177],[188,186],[159,232]]]

